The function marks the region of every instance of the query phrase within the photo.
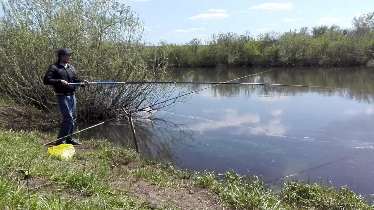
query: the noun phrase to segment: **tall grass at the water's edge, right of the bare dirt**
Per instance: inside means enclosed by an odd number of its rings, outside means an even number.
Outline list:
[[[197,173],[194,180],[197,185],[212,189],[220,200],[231,209],[305,209],[305,210],[370,210],[374,205],[368,205],[360,195],[355,195],[347,188],[340,190],[318,185],[313,182],[282,183],[279,191],[265,188],[260,177],[250,179],[234,172],[223,174],[224,179],[212,172]]]

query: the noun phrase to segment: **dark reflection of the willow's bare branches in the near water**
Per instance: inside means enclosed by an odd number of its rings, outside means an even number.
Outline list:
[[[92,126],[81,124],[82,127]],[[162,163],[172,162],[177,167],[180,149],[193,148],[193,131],[186,129],[184,124],[176,124],[171,121],[155,118],[150,120],[134,120],[135,133],[138,140],[140,154]],[[131,127],[127,121],[104,124],[88,132],[81,133],[80,139],[106,139],[125,148],[135,150],[135,141]]]

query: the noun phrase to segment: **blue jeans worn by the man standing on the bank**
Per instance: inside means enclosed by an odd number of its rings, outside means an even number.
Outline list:
[[[62,115],[62,122],[60,131],[57,138],[74,133],[74,122],[77,120],[77,109],[75,95],[72,96],[57,96],[58,106]],[[62,139],[56,143],[68,143],[70,140],[74,140],[74,136],[70,136],[66,139]]]

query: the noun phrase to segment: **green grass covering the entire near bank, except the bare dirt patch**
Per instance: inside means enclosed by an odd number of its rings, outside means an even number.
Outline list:
[[[285,182],[279,191],[232,171],[224,179],[212,172],[188,174],[141,158],[136,152],[106,141],[85,142],[72,160],[53,158],[37,132],[0,131],[0,209],[182,209],[169,204],[151,207],[129,188],[134,179],[175,188],[208,189],[227,209],[246,210],[369,210],[374,206],[347,188],[340,190],[310,182]],[[30,158],[35,154],[30,171]],[[132,163],[135,167],[125,167]],[[30,192],[26,188],[44,187]],[[212,207],[212,209],[214,209]]]

